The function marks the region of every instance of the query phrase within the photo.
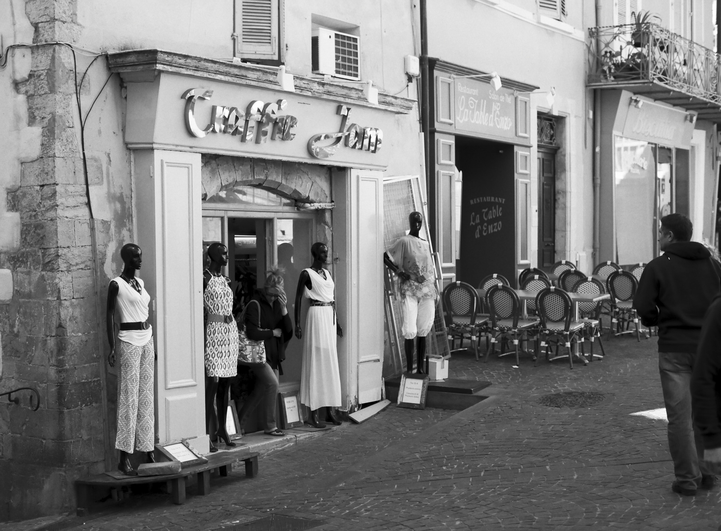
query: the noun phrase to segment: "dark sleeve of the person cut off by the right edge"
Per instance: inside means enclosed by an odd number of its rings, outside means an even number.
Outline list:
[[[721,297],[712,302],[701,329],[691,400],[704,448],[721,447]]]

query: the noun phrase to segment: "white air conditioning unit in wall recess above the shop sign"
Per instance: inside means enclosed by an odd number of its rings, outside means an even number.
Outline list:
[[[358,37],[319,27],[311,33],[314,74],[361,79]]]

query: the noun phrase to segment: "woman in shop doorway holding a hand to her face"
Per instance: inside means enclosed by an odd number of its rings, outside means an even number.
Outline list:
[[[245,312],[245,330],[249,339],[265,343],[265,363],[247,365],[255,374],[255,388],[238,412],[240,425],[264,400],[263,431],[267,435],[283,436],[275,421],[278,401],[278,374],[283,374],[281,362],[286,359],[286,345],[293,337],[293,324],[288,315],[286,291],[283,289],[282,271],[270,268],[266,272],[265,286],[256,289]],[[257,301],[257,304],[254,302]],[[260,308],[260,312],[259,312]]]

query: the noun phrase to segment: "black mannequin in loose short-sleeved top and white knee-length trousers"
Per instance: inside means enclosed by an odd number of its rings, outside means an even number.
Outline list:
[[[438,288],[435,286],[430,245],[419,235],[423,216],[420,212],[411,212],[408,224],[409,234],[399,237],[383,253],[383,262],[400,278],[403,315],[401,331],[405,339],[407,372],[413,372],[414,342],[418,338],[417,372],[425,374],[425,336],[433,328]]]

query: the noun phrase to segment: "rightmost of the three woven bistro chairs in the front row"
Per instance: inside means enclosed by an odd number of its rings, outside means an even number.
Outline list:
[[[568,364],[573,369],[574,353],[571,348],[572,343],[575,341],[578,348],[578,343],[583,342],[585,324],[580,321],[572,321],[573,304],[571,298],[564,290],[556,286],[550,286],[541,289],[539,294],[536,295],[536,307],[538,307],[539,316],[541,317],[541,334],[543,335],[541,348],[546,349],[546,359],[554,361],[568,356]],[[552,346],[552,343],[554,343],[556,351],[553,357],[549,357],[549,347]],[[561,343],[564,344],[567,355],[558,354]],[[588,363],[588,360],[584,356],[580,356],[578,352],[575,355],[583,361],[583,364]]]

